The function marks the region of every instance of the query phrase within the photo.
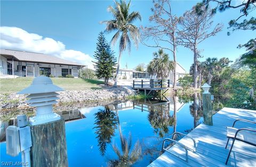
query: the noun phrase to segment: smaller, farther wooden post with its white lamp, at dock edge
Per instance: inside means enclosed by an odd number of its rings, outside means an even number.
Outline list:
[[[211,86],[208,84],[204,84],[202,88],[204,89],[203,93],[203,113],[204,113],[204,124],[213,126],[212,122],[212,101],[211,101],[211,93],[209,93],[209,89]]]

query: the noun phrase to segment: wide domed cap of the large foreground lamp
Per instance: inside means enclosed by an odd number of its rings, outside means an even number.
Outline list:
[[[36,77],[29,87],[19,91],[17,94],[39,94],[54,91],[63,91],[63,89],[53,85],[51,78],[40,76]]]

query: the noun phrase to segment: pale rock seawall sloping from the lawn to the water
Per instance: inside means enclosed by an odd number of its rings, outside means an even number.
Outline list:
[[[81,103],[81,102],[99,102],[113,99],[123,99],[127,96],[134,95],[134,92],[125,88],[109,89],[88,89],[88,90],[66,90],[58,92],[58,102],[61,103]],[[26,103],[27,95],[0,94],[1,109],[24,108],[28,107]]]

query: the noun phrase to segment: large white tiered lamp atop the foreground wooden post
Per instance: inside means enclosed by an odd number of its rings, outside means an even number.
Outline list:
[[[42,124],[46,122],[52,122],[60,120],[60,115],[53,113],[52,104],[57,103],[57,97],[59,94],[55,91],[62,91],[63,89],[52,84],[52,80],[49,77],[36,77],[32,84],[19,91],[18,94],[30,94],[27,98],[30,98],[27,103],[30,106],[36,107],[36,116],[29,118],[31,125]]]

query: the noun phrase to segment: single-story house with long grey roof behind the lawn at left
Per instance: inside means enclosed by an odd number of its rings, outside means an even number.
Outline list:
[[[81,69],[85,66],[59,57],[25,51],[1,49],[0,74],[19,77],[37,77],[50,75],[66,77],[81,76]]]

